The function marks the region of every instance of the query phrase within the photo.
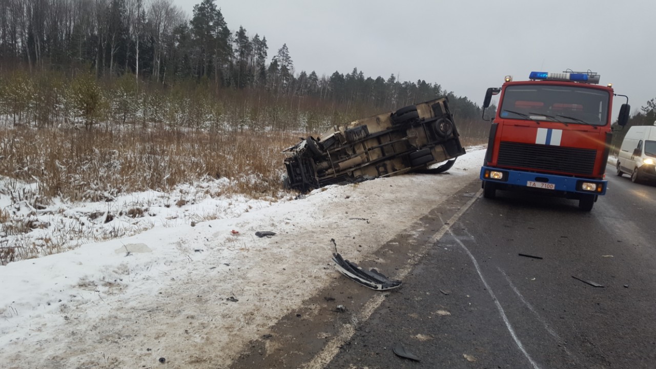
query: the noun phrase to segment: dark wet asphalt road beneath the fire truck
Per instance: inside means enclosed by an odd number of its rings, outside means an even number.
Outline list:
[[[419,255],[401,288],[342,278],[233,368],[654,368],[656,186],[608,179],[590,213],[472,183],[381,248]]]

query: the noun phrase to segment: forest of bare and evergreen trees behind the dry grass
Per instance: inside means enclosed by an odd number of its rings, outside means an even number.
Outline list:
[[[298,73],[286,44],[269,58],[266,37],[249,34],[231,32],[215,0],[190,19],[172,0],[3,0],[0,113],[39,126],[118,119],[313,131],[448,96],[459,125],[480,122],[474,102],[437,83],[358,68]]]

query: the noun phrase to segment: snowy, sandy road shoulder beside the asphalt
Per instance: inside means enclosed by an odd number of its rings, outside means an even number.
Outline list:
[[[113,206],[146,209],[121,218],[140,233],[0,266],[0,367],[149,368],[159,357],[176,368],[224,367],[344,278],[331,238],[357,263],[478,178],[485,150],[467,151],[443,175],[328,186],[296,200],[211,197],[208,184],[173,198],[125,196]],[[77,219],[84,232],[107,232],[106,213],[120,211],[57,206],[47,223]]]

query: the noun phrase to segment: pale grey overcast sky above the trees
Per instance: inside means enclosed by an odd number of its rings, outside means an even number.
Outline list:
[[[189,17],[201,0],[173,0]],[[628,95],[656,98],[654,0],[217,0],[233,32],[287,44],[295,72],[439,83],[481,105],[503,77],[592,70]],[[625,102],[615,98],[615,104]],[[619,110],[615,106],[613,114]]]

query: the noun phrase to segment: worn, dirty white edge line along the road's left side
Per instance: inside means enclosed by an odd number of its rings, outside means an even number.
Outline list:
[[[426,244],[420,248],[420,250],[415,254],[413,257],[411,257],[410,262],[405,265],[405,267],[401,268],[399,273],[394,277],[395,279],[398,280],[403,280],[407,274],[412,270],[412,268],[419,262],[419,259],[421,259],[425,254],[426,251],[428,250],[428,246],[434,245],[444,236],[446,232],[451,231],[451,225],[455,224],[456,221],[464,214],[467,209],[469,209],[472,204],[478,198],[480,198],[481,194],[483,193],[483,190],[478,190],[476,192],[476,195],[474,195],[464,206],[461,207],[457,213],[453,214],[453,217],[445,223],[440,230],[434,234]],[[358,314],[357,318],[359,322],[363,322],[373,314],[373,312],[380,306],[382,301],[385,300],[385,295],[380,294],[380,295],[375,295],[363,307],[361,312]],[[351,324],[344,325],[340,329],[339,333],[333,338],[326,343],[326,345],[323,347],[323,349],[314,357],[310,362],[307,364],[304,364],[302,368],[304,369],[321,369],[324,366],[326,366],[337,353],[339,352],[339,348],[346,343],[351,337],[356,333],[356,330],[353,328]],[[537,367],[535,367],[537,368]]]

